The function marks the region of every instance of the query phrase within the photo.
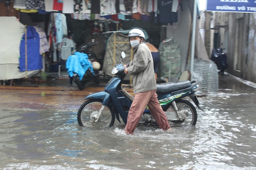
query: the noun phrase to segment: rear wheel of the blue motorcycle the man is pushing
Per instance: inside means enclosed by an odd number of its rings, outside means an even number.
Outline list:
[[[196,108],[194,107],[194,105],[192,103],[188,102],[187,100],[182,100],[182,99],[177,100],[175,103],[178,108],[178,111],[185,113],[185,111],[187,110],[188,116],[183,121],[171,121],[171,120],[169,120],[169,121],[174,122],[175,124],[196,125],[197,111],[196,111]],[[169,103],[163,110],[164,111],[174,111],[174,109],[172,108],[172,103]]]

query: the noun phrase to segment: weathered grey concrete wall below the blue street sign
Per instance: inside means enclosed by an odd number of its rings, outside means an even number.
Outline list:
[[[221,43],[224,43],[225,29],[229,31],[226,52],[229,68],[225,71],[256,83],[256,14],[216,12],[215,27],[219,25],[228,26],[217,30],[221,35]],[[241,58],[239,69],[237,69],[239,62],[237,58]]]

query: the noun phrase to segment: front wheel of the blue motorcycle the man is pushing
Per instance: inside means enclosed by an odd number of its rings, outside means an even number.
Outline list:
[[[102,112],[100,120],[97,123],[91,121],[91,116],[96,116],[100,108],[102,107],[103,100],[101,99],[92,99],[84,102],[77,113],[77,121],[80,126],[87,127],[111,127],[115,123],[115,113],[113,112],[112,107],[106,106]]]

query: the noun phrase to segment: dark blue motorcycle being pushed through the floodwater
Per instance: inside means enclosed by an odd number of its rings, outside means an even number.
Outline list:
[[[124,52],[122,52],[121,57],[125,58]],[[124,69],[125,67],[121,63],[115,65],[112,70],[112,74],[115,76],[106,84],[104,91],[90,94],[84,98],[87,101],[80,106],[77,113],[80,126],[111,127],[114,125],[115,119],[121,123],[119,115],[124,123],[127,123],[129,108],[134,97],[122,88],[122,82],[126,76]],[[184,97],[189,96],[202,110],[194,94],[199,88],[196,81],[157,84],[158,100],[170,124],[196,125],[197,111],[192,103],[184,100]],[[149,108],[145,108],[139,124],[157,125]]]

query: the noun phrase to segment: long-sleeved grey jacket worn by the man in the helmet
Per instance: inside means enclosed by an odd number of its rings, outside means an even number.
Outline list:
[[[127,64],[127,71],[133,75],[134,94],[156,89],[153,58],[145,43],[134,49],[134,58]]]

